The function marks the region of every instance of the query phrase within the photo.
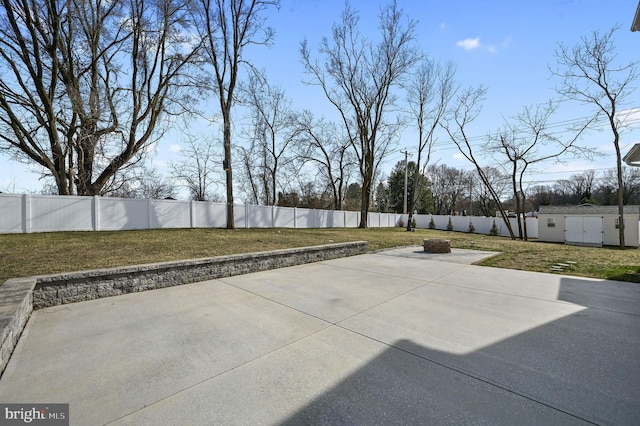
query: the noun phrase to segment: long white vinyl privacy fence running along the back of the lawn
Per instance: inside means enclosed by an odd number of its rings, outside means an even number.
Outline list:
[[[111,197],[0,194],[0,233],[54,231],[111,231],[155,228],[224,228],[226,204],[204,201],[147,200]],[[489,234],[495,220],[500,235],[508,235],[501,219],[475,216],[416,215],[416,226],[428,228],[433,217],[436,229],[446,230],[451,218],[453,230]],[[369,213],[371,228],[406,224],[407,216]],[[360,213],[302,209],[296,207],[236,204],[236,228],[356,228]],[[517,231],[515,219],[511,219]],[[527,232],[537,238],[537,219],[527,218]]]

